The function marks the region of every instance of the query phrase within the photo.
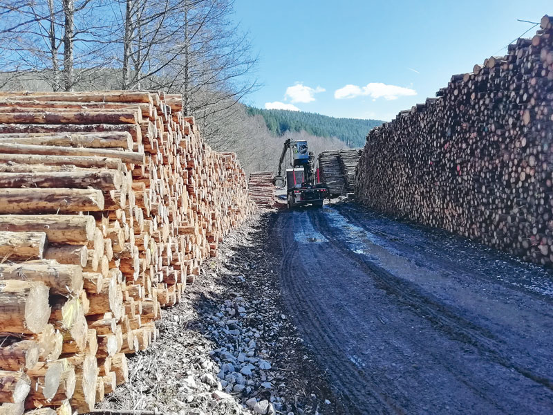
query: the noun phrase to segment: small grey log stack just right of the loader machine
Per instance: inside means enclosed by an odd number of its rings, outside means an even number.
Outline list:
[[[360,156],[359,149],[322,151],[319,154],[321,181],[328,186],[330,194],[337,196],[353,192],[355,167]]]

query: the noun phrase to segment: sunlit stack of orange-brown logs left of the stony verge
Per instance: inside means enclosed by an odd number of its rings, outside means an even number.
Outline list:
[[[0,93],[0,414],[93,409],[255,209],[181,102]]]

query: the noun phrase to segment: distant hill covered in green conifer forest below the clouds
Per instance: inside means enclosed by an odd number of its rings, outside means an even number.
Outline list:
[[[251,116],[260,115],[267,128],[281,136],[286,131],[306,131],[313,136],[337,137],[350,147],[363,147],[368,131],[382,124],[379,120],[334,118],[317,113],[288,111],[285,109],[259,109],[247,107]]]

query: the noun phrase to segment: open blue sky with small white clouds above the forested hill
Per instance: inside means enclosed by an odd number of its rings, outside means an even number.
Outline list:
[[[553,0],[236,0],[259,53],[254,107],[391,120],[472,70]],[[525,37],[532,36],[532,29]]]

